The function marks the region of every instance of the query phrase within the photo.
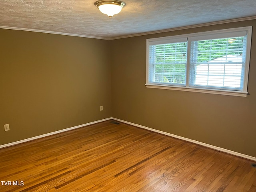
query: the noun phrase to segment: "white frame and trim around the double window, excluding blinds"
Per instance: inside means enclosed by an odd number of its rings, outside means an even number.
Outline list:
[[[247,45],[246,45],[246,61],[245,61],[245,68],[244,68],[244,84],[243,84],[243,90],[222,90],[222,89],[210,89],[210,88],[198,88],[198,87],[190,87],[189,86],[189,73],[190,73],[190,49],[191,49],[191,41],[190,38],[196,38],[200,36],[207,36],[207,35],[213,35],[218,36],[218,34],[223,33],[235,33],[235,32],[241,32],[246,31],[247,33]],[[188,39],[188,50],[187,50],[187,72],[186,72],[186,86],[172,86],[172,85],[166,85],[166,84],[153,84],[150,83],[148,80],[148,73],[149,73],[149,45],[152,43],[157,44],[164,44],[168,43],[175,39]],[[220,38],[222,38],[220,36]],[[224,37],[225,38],[225,37]],[[200,92],[200,93],[210,93],[210,94],[221,94],[221,95],[230,95],[230,96],[242,96],[246,97],[248,95],[247,92],[247,85],[248,85],[248,74],[249,74],[249,64],[250,64],[250,50],[251,50],[251,39],[252,39],[252,26],[248,27],[240,27],[240,28],[231,28],[231,29],[224,29],[224,30],[214,30],[214,31],[208,31],[208,32],[199,32],[199,33],[192,33],[192,34],[184,34],[184,35],[177,35],[177,36],[168,36],[168,37],[160,37],[160,38],[152,38],[146,40],[146,87],[147,88],[158,88],[158,89],[169,89],[169,90],[179,90],[179,91],[189,91],[189,92]]]

